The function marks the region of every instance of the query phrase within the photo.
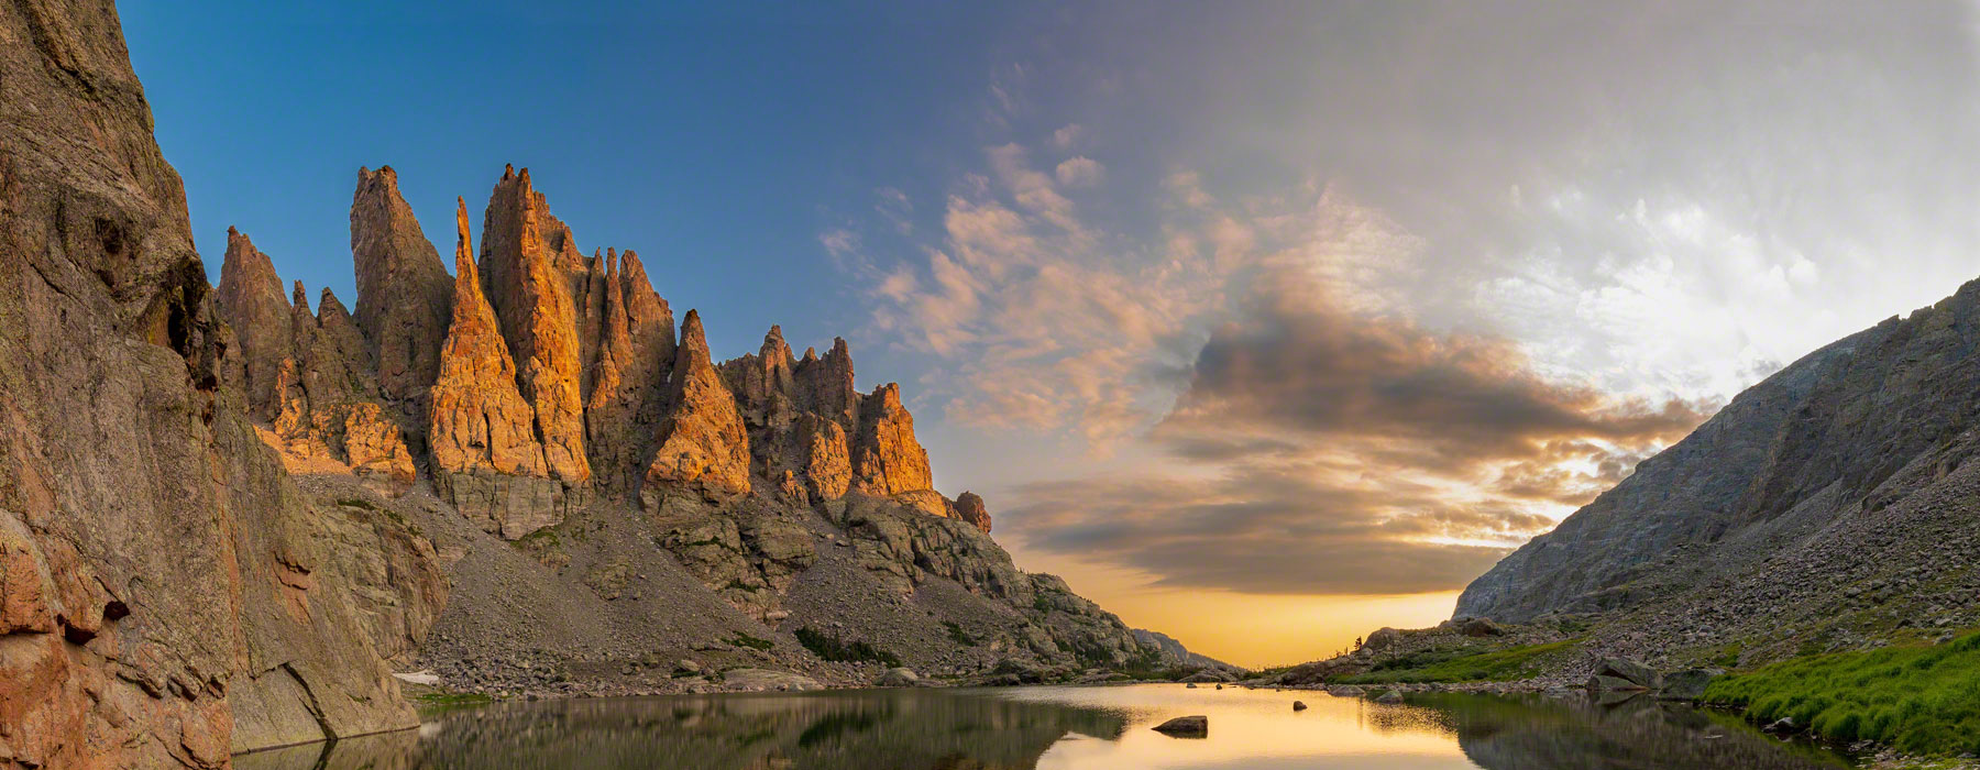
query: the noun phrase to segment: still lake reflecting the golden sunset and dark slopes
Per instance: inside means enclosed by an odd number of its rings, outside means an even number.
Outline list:
[[[1307,711],[1293,711],[1305,701]],[[1206,715],[1206,738],[1150,730]],[[236,758],[242,770],[394,768],[1847,768],[1738,719],[1630,699],[1014,687],[683,695],[461,707],[418,730]]]

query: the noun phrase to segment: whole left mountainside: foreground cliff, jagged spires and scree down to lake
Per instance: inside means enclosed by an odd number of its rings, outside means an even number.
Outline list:
[[[459,206],[453,275],[358,172],[356,307],[311,311],[238,232],[208,285],[113,2],[0,8],[0,764],[416,726],[394,671],[556,697],[1188,661],[1012,566],[843,342],[772,327],[717,364],[527,172],[479,251]]]

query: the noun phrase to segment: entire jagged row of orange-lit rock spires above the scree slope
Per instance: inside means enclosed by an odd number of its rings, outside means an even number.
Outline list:
[[[901,388],[857,392],[843,338],[796,356],[770,327],[756,352],[717,362],[699,315],[675,337],[634,251],[576,249],[527,168],[495,182],[479,249],[457,202],[444,293],[390,166],[358,172],[350,228],[356,315],[283,299],[269,257],[230,236],[218,307],[240,333],[234,366],[293,471],[398,493],[424,459],[446,501],[505,538],[596,499],[657,511],[861,493],[958,515]],[[988,521],[980,501],[968,515]]]

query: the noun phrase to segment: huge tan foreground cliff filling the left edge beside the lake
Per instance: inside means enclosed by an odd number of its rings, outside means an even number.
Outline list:
[[[0,762],[220,768],[418,724],[386,655],[424,635],[438,564],[386,517],[321,511],[255,437],[244,392],[267,406],[275,376],[230,374],[242,329],[111,2],[0,8]],[[281,335],[271,271],[242,267],[232,309]]]

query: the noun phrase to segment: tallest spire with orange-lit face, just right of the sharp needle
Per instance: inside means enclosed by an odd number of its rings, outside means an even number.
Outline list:
[[[570,249],[568,230],[548,218],[548,204],[529,184],[529,168],[503,170],[489,196],[481,234],[483,289],[517,366],[517,390],[535,410],[537,435],[550,475],[590,479],[584,453],[582,362],[570,279],[558,251],[544,243],[544,224]]]

